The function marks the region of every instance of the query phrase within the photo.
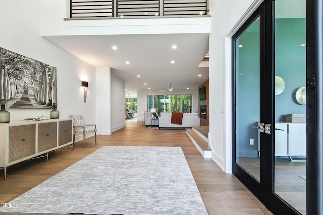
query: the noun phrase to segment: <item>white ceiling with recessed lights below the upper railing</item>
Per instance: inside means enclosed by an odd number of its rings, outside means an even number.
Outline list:
[[[148,88],[168,89],[169,83],[177,90],[197,89],[208,80],[209,68],[198,67],[209,50],[208,33],[45,38],[95,67],[111,67],[126,81],[126,95]]]

